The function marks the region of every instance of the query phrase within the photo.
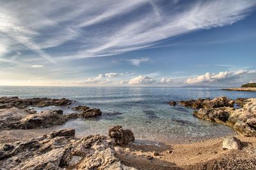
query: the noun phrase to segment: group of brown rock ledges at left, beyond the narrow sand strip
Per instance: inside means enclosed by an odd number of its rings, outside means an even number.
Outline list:
[[[91,118],[102,114],[99,109],[77,106],[73,110],[81,113],[63,115],[63,110],[47,110],[37,113],[28,106],[66,106],[68,99],[0,97],[0,131],[4,129],[38,129],[65,124],[72,118]]]

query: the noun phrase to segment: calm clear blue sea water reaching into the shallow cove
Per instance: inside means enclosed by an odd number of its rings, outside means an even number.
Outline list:
[[[227,96],[256,97],[255,92],[236,92],[218,89],[172,89],[149,87],[0,87],[0,96],[19,96],[21,98],[51,97],[76,100],[73,104],[100,108],[102,116],[97,118],[68,121],[78,136],[88,134],[107,134],[113,125],[131,129],[138,141],[161,141],[173,143],[184,139],[205,139],[234,133],[225,125],[214,124],[193,117],[194,110],[170,106],[168,101]],[[36,110],[68,108],[47,107]]]

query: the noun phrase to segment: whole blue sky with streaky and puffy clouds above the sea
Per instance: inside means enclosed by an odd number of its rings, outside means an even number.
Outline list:
[[[255,0],[0,4],[0,85],[256,82]]]

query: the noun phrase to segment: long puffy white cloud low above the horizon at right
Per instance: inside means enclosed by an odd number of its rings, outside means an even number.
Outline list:
[[[195,78],[188,78],[186,80],[186,83],[198,84],[198,83],[211,83],[211,82],[218,82],[218,81],[235,80],[237,78],[240,78],[243,74],[246,74],[246,73],[248,73],[248,71],[223,71],[218,74],[205,73]]]

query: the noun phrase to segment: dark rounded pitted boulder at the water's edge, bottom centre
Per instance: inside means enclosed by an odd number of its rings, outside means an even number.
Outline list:
[[[122,129],[122,126],[116,125],[111,127],[108,131],[108,135],[113,139],[115,145],[125,146],[134,142],[134,134],[129,129]]]

